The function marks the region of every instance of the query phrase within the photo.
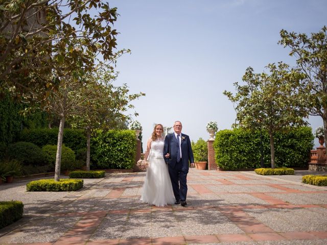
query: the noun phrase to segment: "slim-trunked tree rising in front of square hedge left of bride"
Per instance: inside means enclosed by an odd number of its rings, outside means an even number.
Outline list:
[[[128,118],[124,112],[133,108],[131,101],[145,95],[140,92],[128,94],[127,85],[114,87],[112,82],[116,74],[110,66],[100,63],[94,72],[86,76],[88,83],[83,87],[82,103],[79,111],[72,113],[74,127],[83,128],[86,132],[86,170],[90,169],[90,137],[95,129],[112,129],[119,126],[119,122]],[[82,112],[82,113],[80,113]],[[137,114],[137,113],[136,113]]]

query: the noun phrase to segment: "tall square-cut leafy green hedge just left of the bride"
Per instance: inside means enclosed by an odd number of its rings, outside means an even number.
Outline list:
[[[91,137],[92,169],[132,169],[136,137],[132,130],[95,131]]]

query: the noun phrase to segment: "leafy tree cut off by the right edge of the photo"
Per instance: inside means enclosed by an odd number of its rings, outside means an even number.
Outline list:
[[[297,67],[305,74],[298,86],[299,96],[307,102],[310,115],[320,116],[327,138],[327,27],[318,33],[306,34],[281,31],[279,44],[291,48]]]

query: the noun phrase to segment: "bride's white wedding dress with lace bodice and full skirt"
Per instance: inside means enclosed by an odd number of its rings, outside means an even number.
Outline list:
[[[175,197],[164,160],[164,140],[151,142],[149,167],[143,184],[141,201],[157,207],[174,204]]]

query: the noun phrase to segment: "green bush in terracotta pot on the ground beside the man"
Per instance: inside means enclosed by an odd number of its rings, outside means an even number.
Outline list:
[[[192,141],[192,150],[194,156],[195,167],[200,170],[206,168],[208,162],[208,146],[202,138],[199,138],[195,143]]]

